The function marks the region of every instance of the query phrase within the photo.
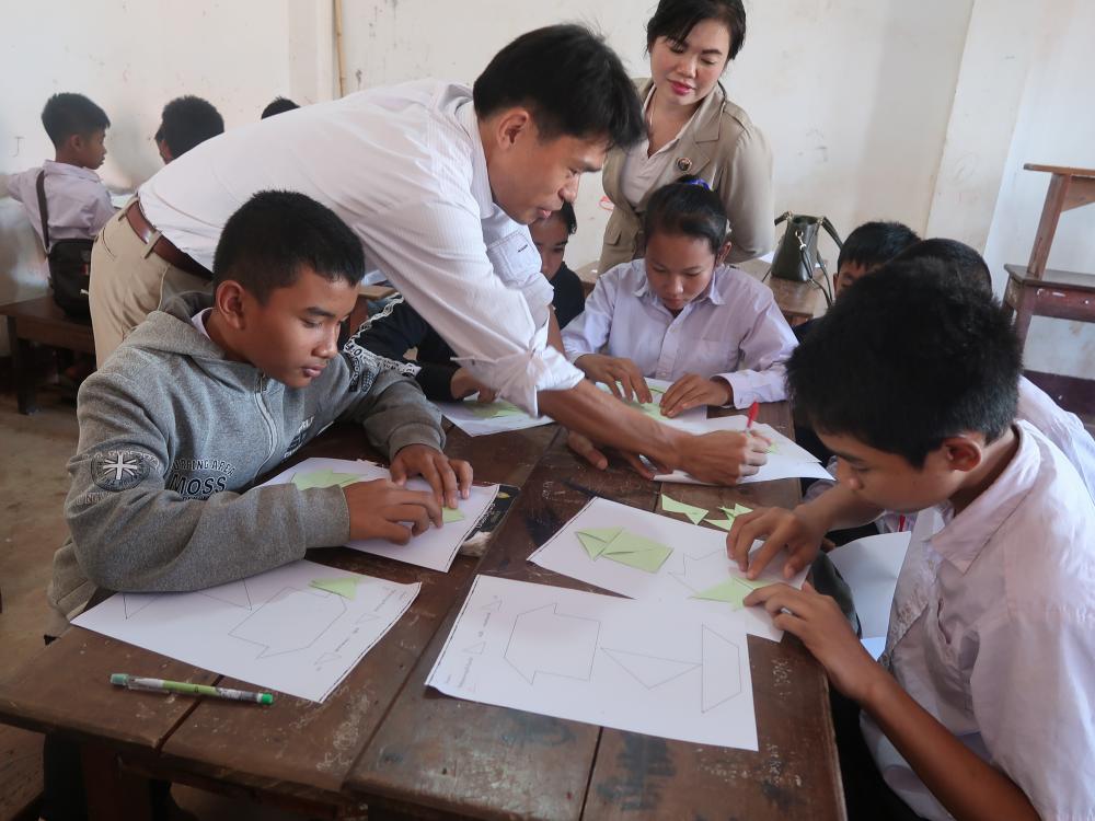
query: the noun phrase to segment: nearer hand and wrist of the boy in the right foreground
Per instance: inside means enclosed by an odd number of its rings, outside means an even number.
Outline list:
[[[809,582],[802,590],[769,585],[749,593],[745,603],[763,606],[776,627],[798,636],[825,667],[833,686],[849,698],[862,702],[877,677],[887,675],[860,644],[840,605]]]

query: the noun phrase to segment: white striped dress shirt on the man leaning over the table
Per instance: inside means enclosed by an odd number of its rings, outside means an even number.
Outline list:
[[[233,128],[164,166],[139,195],[149,221],[211,267],[224,222],[269,188],[342,217],[369,267],[506,398],[535,415],[537,391],[581,380],[546,344],[551,284],[528,228],[494,203],[468,86],[372,89]]]

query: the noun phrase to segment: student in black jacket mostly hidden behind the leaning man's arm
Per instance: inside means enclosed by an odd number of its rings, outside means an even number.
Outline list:
[[[585,303],[581,280],[563,262],[566,243],[577,227],[569,203],[529,226],[532,242],[540,252],[540,270],[554,289],[552,307],[560,326],[580,314]],[[453,363],[452,348],[402,297],[370,316],[347,347],[399,362],[400,370],[414,375],[426,397],[434,402],[457,402],[473,393],[479,393],[481,402],[495,398],[494,391],[477,382],[466,368]],[[406,358],[412,348],[417,349],[413,361]]]

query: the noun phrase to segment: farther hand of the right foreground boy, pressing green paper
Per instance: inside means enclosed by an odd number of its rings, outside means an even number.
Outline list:
[[[758,539],[763,539],[764,544],[750,560],[749,551]],[[758,508],[735,518],[726,535],[726,555],[754,579],[775,554],[786,548],[791,557],[783,566],[783,577],[789,579],[817,558],[823,539],[825,530],[819,532],[797,510]]]

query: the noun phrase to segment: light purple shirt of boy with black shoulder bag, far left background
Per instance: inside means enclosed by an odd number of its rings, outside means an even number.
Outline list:
[[[114,216],[111,193],[91,169],[46,160],[41,167],[27,169],[8,177],[8,193],[23,204],[34,232],[42,236],[38,211],[38,172],[46,170],[46,211],[49,213],[49,240],[93,240]],[[48,251],[48,248],[46,248]]]

